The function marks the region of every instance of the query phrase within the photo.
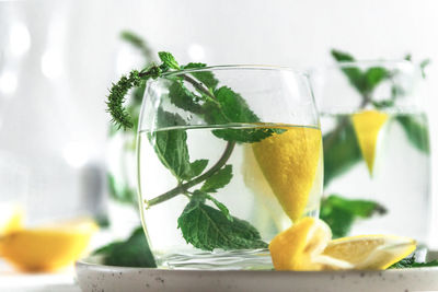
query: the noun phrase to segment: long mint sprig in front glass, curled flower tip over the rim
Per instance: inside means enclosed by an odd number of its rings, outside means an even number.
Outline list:
[[[145,85],[150,79],[160,77],[171,82],[166,96],[170,103],[184,112],[198,116],[207,124],[229,125],[261,121],[239,93],[228,86],[217,87],[219,81],[211,71],[188,70],[185,73],[170,73],[180,69],[204,68],[206,67],[204,63],[181,66],[170,52],[165,51],[160,51],[159,58],[161,65],[152,65],[141,72],[134,70],[129,78],[122,78],[113,85],[107,104],[108,112],[118,127],[132,127],[129,113],[123,105],[127,92],[132,87]],[[189,86],[186,85],[187,83]],[[180,115],[160,109],[157,113],[155,126],[161,130],[148,133],[148,139],[160,162],[175,177],[176,186],[148,200],[148,208],[184,194],[189,201],[178,219],[178,227],[187,243],[207,250],[266,247],[266,243],[261,240],[254,226],[232,217],[229,209],[212,195],[231,182],[232,167],[226,164],[235,143],[261,141],[281,131],[257,127],[245,130],[212,130],[212,135],[227,141],[227,147],[220,159],[207,170],[208,160],[191,162],[187,133],[184,129],[165,129],[186,126],[186,121]],[[196,189],[200,184],[203,185]],[[206,201],[212,203],[217,209],[206,205]]]

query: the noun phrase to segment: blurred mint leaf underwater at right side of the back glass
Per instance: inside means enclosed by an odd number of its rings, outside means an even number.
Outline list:
[[[397,116],[395,119],[403,127],[411,144],[419,151],[429,154],[429,131],[427,126],[411,115]],[[426,120],[426,117],[423,116],[423,119]]]

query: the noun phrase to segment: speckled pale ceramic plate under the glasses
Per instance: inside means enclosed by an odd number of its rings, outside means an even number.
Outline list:
[[[110,267],[85,259],[76,265],[83,292],[145,291],[434,291],[438,268],[388,271],[211,271]]]

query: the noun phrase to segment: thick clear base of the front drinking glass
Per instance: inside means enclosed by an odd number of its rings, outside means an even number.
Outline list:
[[[178,253],[158,259],[161,269],[272,270],[268,249]]]

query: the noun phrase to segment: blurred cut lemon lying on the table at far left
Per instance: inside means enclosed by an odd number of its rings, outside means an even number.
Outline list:
[[[56,270],[78,259],[96,230],[84,219],[14,231],[1,238],[2,256],[21,270]]]

